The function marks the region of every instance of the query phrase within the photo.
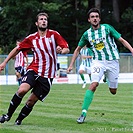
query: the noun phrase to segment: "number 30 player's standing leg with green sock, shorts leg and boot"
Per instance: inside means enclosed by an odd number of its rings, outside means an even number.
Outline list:
[[[84,122],[88,108],[93,100],[94,92],[97,86],[99,85],[99,82],[103,74],[104,74],[104,68],[100,63],[92,66],[92,74],[91,74],[92,83],[90,84],[88,90],[86,90],[84,101],[82,104],[82,113],[77,120],[78,123]]]

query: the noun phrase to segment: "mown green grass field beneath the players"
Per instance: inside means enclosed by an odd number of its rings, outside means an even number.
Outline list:
[[[131,133],[133,132],[133,84],[119,84],[116,95],[100,84],[84,124],[77,124],[86,89],[81,84],[54,84],[44,102],[38,102],[22,125],[14,121],[30,92],[0,133]],[[0,115],[7,112],[17,86],[0,86]]]

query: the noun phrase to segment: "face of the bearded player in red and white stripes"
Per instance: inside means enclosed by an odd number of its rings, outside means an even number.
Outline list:
[[[39,30],[45,31],[48,27],[48,19],[46,16],[42,15],[38,17],[38,21],[36,22],[36,26]]]

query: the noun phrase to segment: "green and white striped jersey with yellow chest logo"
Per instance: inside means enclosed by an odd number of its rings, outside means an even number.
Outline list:
[[[90,27],[85,31],[78,46],[87,45],[93,52],[94,60],[116,60],[119,59],[119,52],[114,39],[118,40],[120,37],[121,34],[112,26],[101,24],[97,30]]]

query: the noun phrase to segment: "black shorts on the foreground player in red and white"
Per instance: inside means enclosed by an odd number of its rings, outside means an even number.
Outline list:
[[[41,101],[44,101],[48,95],[53,78],[44,78],[37,75],[33,70],[28,71],[22,78],[22,83],[28,83],[31,86],[32,92]]]

